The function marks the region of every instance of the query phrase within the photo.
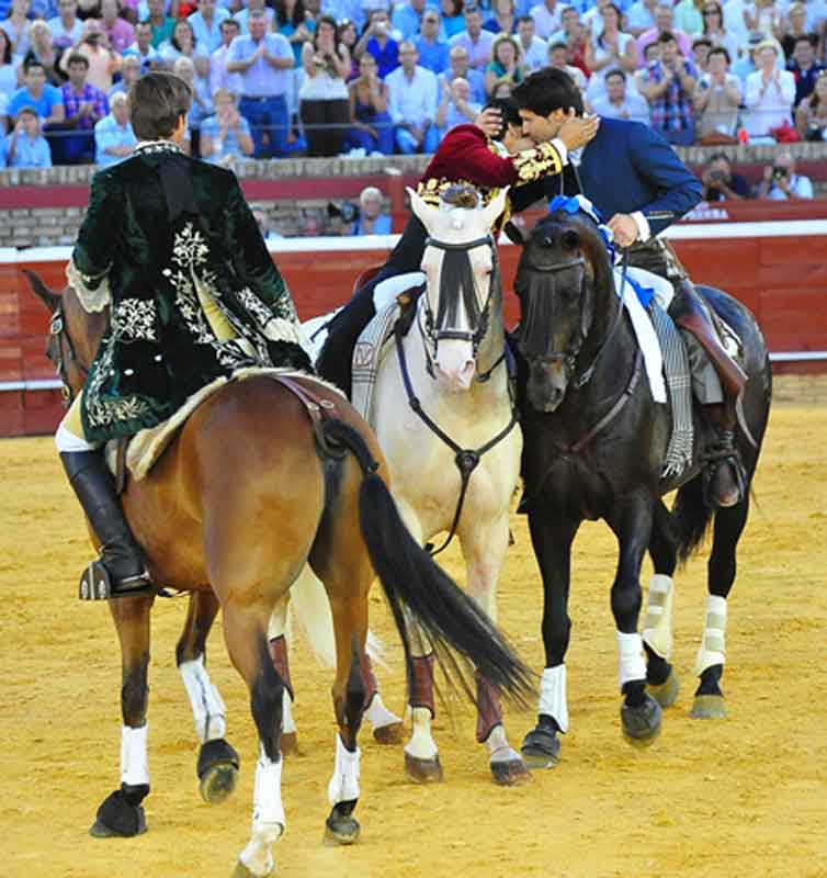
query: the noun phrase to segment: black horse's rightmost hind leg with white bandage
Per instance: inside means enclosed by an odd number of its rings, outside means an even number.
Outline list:
[[[749,493],[729,507],[718,509],[713,528],[712,553],[707,566],[706,623],[695,658],[695,674],[701,683],[695,691],[692,716],[695,719],[726,717],[721,677],[726,661],[726,599],[735,582],[736,545],[747,524]]]

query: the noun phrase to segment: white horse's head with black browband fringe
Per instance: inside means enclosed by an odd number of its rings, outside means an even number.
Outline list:
[[[490,325],[490,311],[501,307],[497,246],[491,228],[506,206],[501,190],[486,206],[476,190],[452,187],[439,207],[408,190],[414,213],[428,232],[422,271],[428,354],[453,391],[467,391],[477,369],[477,353]]]

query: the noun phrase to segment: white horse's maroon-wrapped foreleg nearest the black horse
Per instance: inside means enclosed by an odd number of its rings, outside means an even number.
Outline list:
[[[461,533],[467,565],[468,593],[494,622],[497,621],[497,584],[508,539],[508,509],[492,526],[476,526]],[[506,736],[499,688],[478,673],[476,683],[477,742],[488,748],[495,781],[512,785],[526,780],[529,769]]]

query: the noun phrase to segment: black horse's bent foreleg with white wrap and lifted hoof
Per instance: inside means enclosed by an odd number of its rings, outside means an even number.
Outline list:
[[[618,679],[623,705],[623,734],[637,744],[650,743],[660,732],[660,705],[646,693],[643,639],[637,633],[641,612],[641,564],[652,536],[654,505],[645,493],[632,495],[607,516],[618,537],[620,559],[612,584],[612,615],[618,626]]]

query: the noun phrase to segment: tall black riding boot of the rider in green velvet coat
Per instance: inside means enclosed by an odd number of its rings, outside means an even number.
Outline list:
[[[61,451],[69,484],[101,542],[101,558],[80,579],[82,598],[144,594],[151,587],[144,555],[135,542],[103,451]]]

